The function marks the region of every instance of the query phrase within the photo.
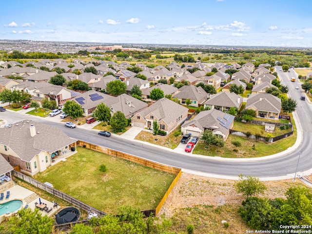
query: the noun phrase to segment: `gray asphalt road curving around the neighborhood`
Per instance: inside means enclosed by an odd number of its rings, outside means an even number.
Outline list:
[[[282,83],[286,84],[289,87],[290,96],[296,99],[298,102],[296,111],[298,120],[297,122],[299,122],[299,125],[303,126],[302,143],[297,149],[293,149],[291,153],[287,153],[283,156],[269,156],[256,159],[237,160],[208,156],[189,156],[177,154],[172,152],[171,150],[156,148],[154,146],[149,146],[136,141],[125,140],[120,137],[99,137],[97,132],[95,131],[85,130],[81,128],[64,128],[63,124],[44,120],[44,118],[39,119],[37,117],[31,116],[26,118],[57,126],[70,137],[112,148],[128,154],[140,156],[142,158],[146,158],[166,165],[179,167],[182,168],[184,172],[190,172],[193,174],[206,175],[211,177],[233,179],[236,179],[237,175],[239,174],[257,176],[263,180],[293,178],[298,162],[298,152],[301,152],[301,156],[298,164],[297,173],[306,172],[312,169],[312,154],[310,153],[311,147],[309,145],[309,140],[312,137],[312,111],[310,109],[308,100],[300,100],[301,93],[303,93],[304,91],[301,89],[295,89],[295,86],[300,87],[300,84],[297,83],[297,81],[290,81],[290,78],[292,76],[295,77],[295,73],[293,71],[290,73],[283,73],[279,71],[279,67],[277,67],[276,70],[279,77],[283,79]],[[12,121],[25,119],[24,115],[12,112],[1,112],[1,116],[3,118],[7,116],[8,119],[11,119]],[[298,126],[297,124],[297,127],[300,126]],[[307,174],[308,172],[305,173],[305,175]]]

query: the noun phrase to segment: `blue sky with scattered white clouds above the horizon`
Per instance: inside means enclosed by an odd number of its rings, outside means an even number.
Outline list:
[[[312,47],[310,0],[24,0],[0,39]]]

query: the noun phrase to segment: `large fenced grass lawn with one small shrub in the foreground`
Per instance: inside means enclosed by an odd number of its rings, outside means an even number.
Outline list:
[[[99,172],[106,165],[108,172]],[[78,147],[67,161],[34,176],[101,211],[116,215],[120,206],[155,209],[176,175],[160,172],[114,156]]]

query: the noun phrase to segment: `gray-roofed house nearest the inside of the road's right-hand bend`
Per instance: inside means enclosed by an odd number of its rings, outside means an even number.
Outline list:
[[[272,94],[259,93],[249,96],[245,109],[256,111],[256,117],[278,119],[282,102]]]

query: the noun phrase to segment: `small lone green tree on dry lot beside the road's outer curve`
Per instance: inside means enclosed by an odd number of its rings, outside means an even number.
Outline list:
[[[247,198],[256,194],[263,194],[266,190],[264,183],[255,176],[244,176],[240,174],[238,178],[239,181],[234,184],[235,190],[237,193],[247,196]]]

